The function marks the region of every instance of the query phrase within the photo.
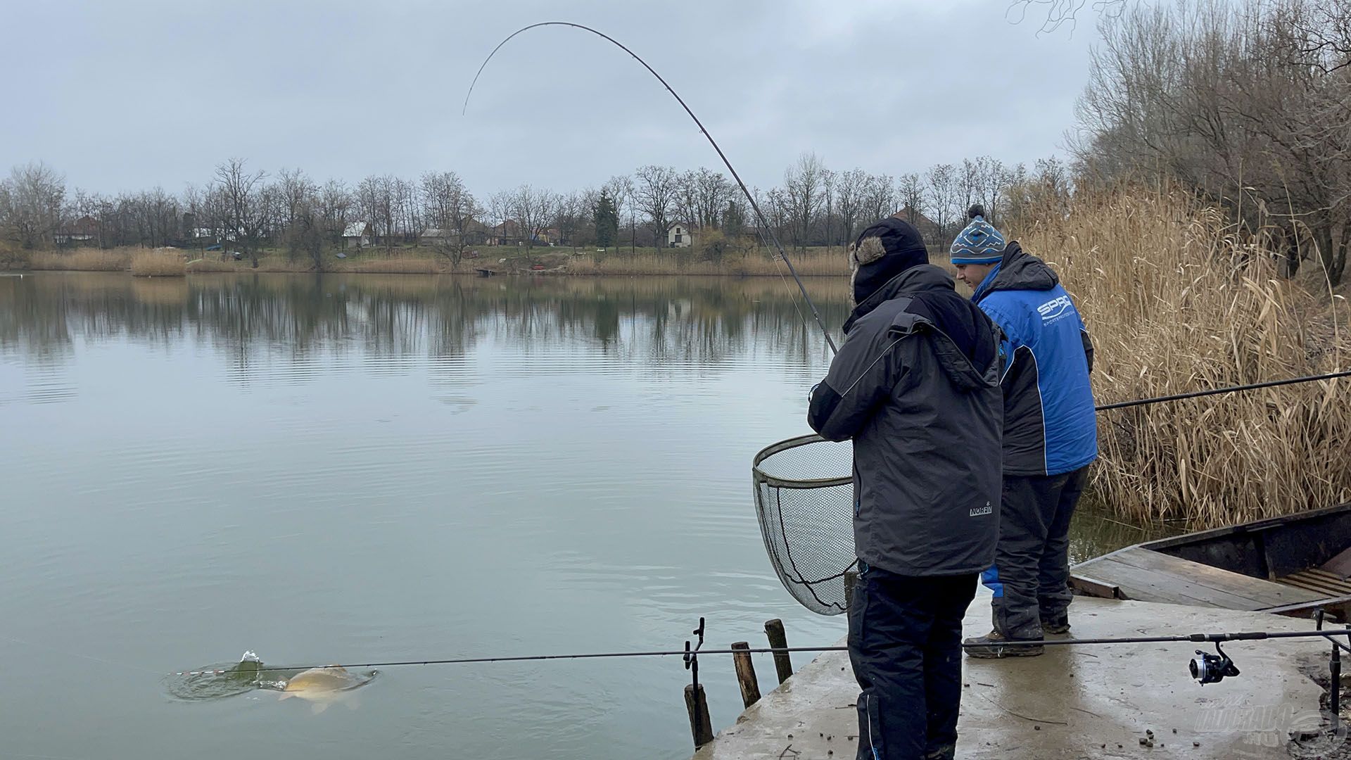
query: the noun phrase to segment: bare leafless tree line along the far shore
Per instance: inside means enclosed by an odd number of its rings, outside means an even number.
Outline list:
[[[778,187],[754,188],[767,227],[725,174],[707,168],[640,166],[598,188],[555,192],[531,184],[486,196],[454,172],[422,177],[369,176],[355,185],[319,183],[300,169],[276,174],[231,158],[201,184],[173,195],[162,188],[115,196],[69,191],[46,164],[16,166],[0,181],[0,234],[23,249],[54,246],[180,246],[238,253],[257,262],[266,249],[322,265],[353,224],[363,241],[393,249],[420,242],[458,264],[485,245],[665,246],[681,222],[696,235],[723,238],[773,233],[785,246],[842,246],[866,224],[904,212],[934,245],[946,245],[981,203],[998,219],[1016,212],[1032,191],[1070,192],[1067,166],[1050,158],[1028,170],[982,156],[925,172],[870,173],[830,169],[802,154]]]

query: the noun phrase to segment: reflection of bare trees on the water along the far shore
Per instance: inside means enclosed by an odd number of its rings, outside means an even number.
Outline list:
[[[827,323],[847,312],[844,284],[811,284]],[[736,357],[820,361],[823,341],[778,280],[427,276],[39,275],[0,281],[0,352],[30,368],[69,362],[78,342],[170,346],[184,337],[231,357],[242,383],[299,381],[324,362],[378,356],[451,362],[484,342],[573,345],[643,364],[717,365]],[[562,368],[561,368],[562,369]],[[31,394],[41,394],[36,385]]]

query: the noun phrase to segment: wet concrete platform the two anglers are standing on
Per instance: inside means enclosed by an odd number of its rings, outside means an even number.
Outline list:
[[[1310,630],[1310,621],[1251,611],[1078,598],[1079,638],[1202,632]],[[989,632],[989,596],[966,618]],[[1327,661],[1323,640],[1233,642],[1242,671],[1201,686],[1188,661],[1196,644],[1050,646],[1040,657],[966,659],[958,759],[1183,757],[1288,759],[1292,732],[1317,730],[1321,688],[1300,664]],[[773,673],[773,668],[762,673]],[[770,676],[773,678],[773,676]],[[858,686],[843,652],[828,652],[766,694],[694,760],[838,760],[858,751]],[[1152,730],[1152,746],[1140,742]]]

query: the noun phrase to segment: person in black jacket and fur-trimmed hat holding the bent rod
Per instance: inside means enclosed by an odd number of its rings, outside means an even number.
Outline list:
[[[850,264],[858,306],[808,423],[854,441],[858,757],[950,759],[962,618],[998,536],[998,331],[904,220],[863,230]]]

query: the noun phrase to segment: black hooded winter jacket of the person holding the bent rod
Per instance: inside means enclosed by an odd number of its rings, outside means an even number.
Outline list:
[[[998,329],[932,265],[861,303],[808,423],[854,441],[854,544],[915,576],[979,572],[998,538]]]

